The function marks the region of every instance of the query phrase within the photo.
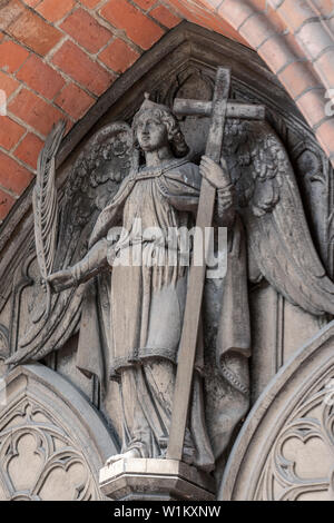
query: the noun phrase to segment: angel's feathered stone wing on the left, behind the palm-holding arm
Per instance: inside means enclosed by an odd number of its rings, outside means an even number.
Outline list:
[[[75,265],[86,255],[99,211],[112,199],[137,160],[132,132],[125,122],[104,127],[88,141],[73,166],[61,201],[53,272]],[[53,198],[49,203],[53,205]],[[41,219],[47,224],[49,211],[45,213],[41,208]],[[80,285],[52,295],[48,316],[31,325],[6,363],[38,361],[59,349],[78,326],[84,293],[85,285]]]

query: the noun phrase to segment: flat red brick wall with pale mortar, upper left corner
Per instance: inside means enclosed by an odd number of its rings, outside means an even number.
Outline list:
[[[0,220],[31,181],[46,135],[68,130],[181,18],[160,1],[0,1]]]

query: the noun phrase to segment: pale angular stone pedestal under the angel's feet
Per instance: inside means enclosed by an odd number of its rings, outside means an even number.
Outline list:
[[[119,501],[214,501],[215,482],[176,460],[119,460],[100,471],[100,489]]]

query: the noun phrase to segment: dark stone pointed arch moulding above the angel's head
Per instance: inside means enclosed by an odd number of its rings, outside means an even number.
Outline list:
[[[278,112],[282,115],[283,119],[287,121],[294,120],[297,128],[303,129],[303,132],[307,135],[305,139],[306,148],[307,144],[313,141],[318,154],[322,156],[323,151],[296,105],[287,96],[279,80],[268,71],[264,61],[255,51],[220,34],[184,21],[139,58],[99,98],[96,105],[66,136],[57,156],[57,177],[60,193],[70,172],[73,157],[77,157],[81,146],[87,142],[92,134],[111,120],[129,119],[139,106],[144,92],[158,91],[159,85],[164,82],[164,79],[168,79],[168,75],[180,70],[187,61],[207,63],[207,67],[210,69],[218,65],[232,66],[233,76],[238,79],[240,88],[246,85],[250,87],[248,100],[261,100],[274,114]],[[160,65],[164,65],[161,68],[164,78],[160,76]],[[153,75],[153,71],[157,72]],[[249,82],[250,78],[252,82]],[[259,95],[261,98],[258,98]],[[275,102],[273,103],[274,99]],[[271,121],[271,124],[275,124],[275,121]],[[282,137],[282,132],[279,132],[279,136]],[[14,248],[10,240],[17,234],[20,235],[20,239],[23,243],[31,238],[32,188],[33,182],[26,189],[0,226],[1,282],[11,282],[12,277],[10,277],[10,274],[22,262],[21,254],[17,253],[17,248]],[[327,193],[330,194],[330,191]],[[8,298],[8,293],[9,286],[1,292],[0,310]]]

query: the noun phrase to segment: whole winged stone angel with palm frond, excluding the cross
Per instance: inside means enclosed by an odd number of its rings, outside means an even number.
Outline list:
[[[212,472],[249,406],[249,284],[265,278],[304,310],[334,314],[334,285],[284,146],[266,122],[229,120],[220,165],[204,156],[198,167],[173,111],[146,98],[132,128],[110,124],[88,141],[58,211],[62,131],[47,140],[35,189],[38,258],[51,292],[7,363],[41,359],[79,330],[77,366],[102,389],[119,384],[121,450],[110,462],[165,457],[189,273],[178,243],[168,263],[168,231],[193,228],[206,178],[216,189],[214,224],[228,228],[227,272],[210,362],[198,341],[183,460]]]

